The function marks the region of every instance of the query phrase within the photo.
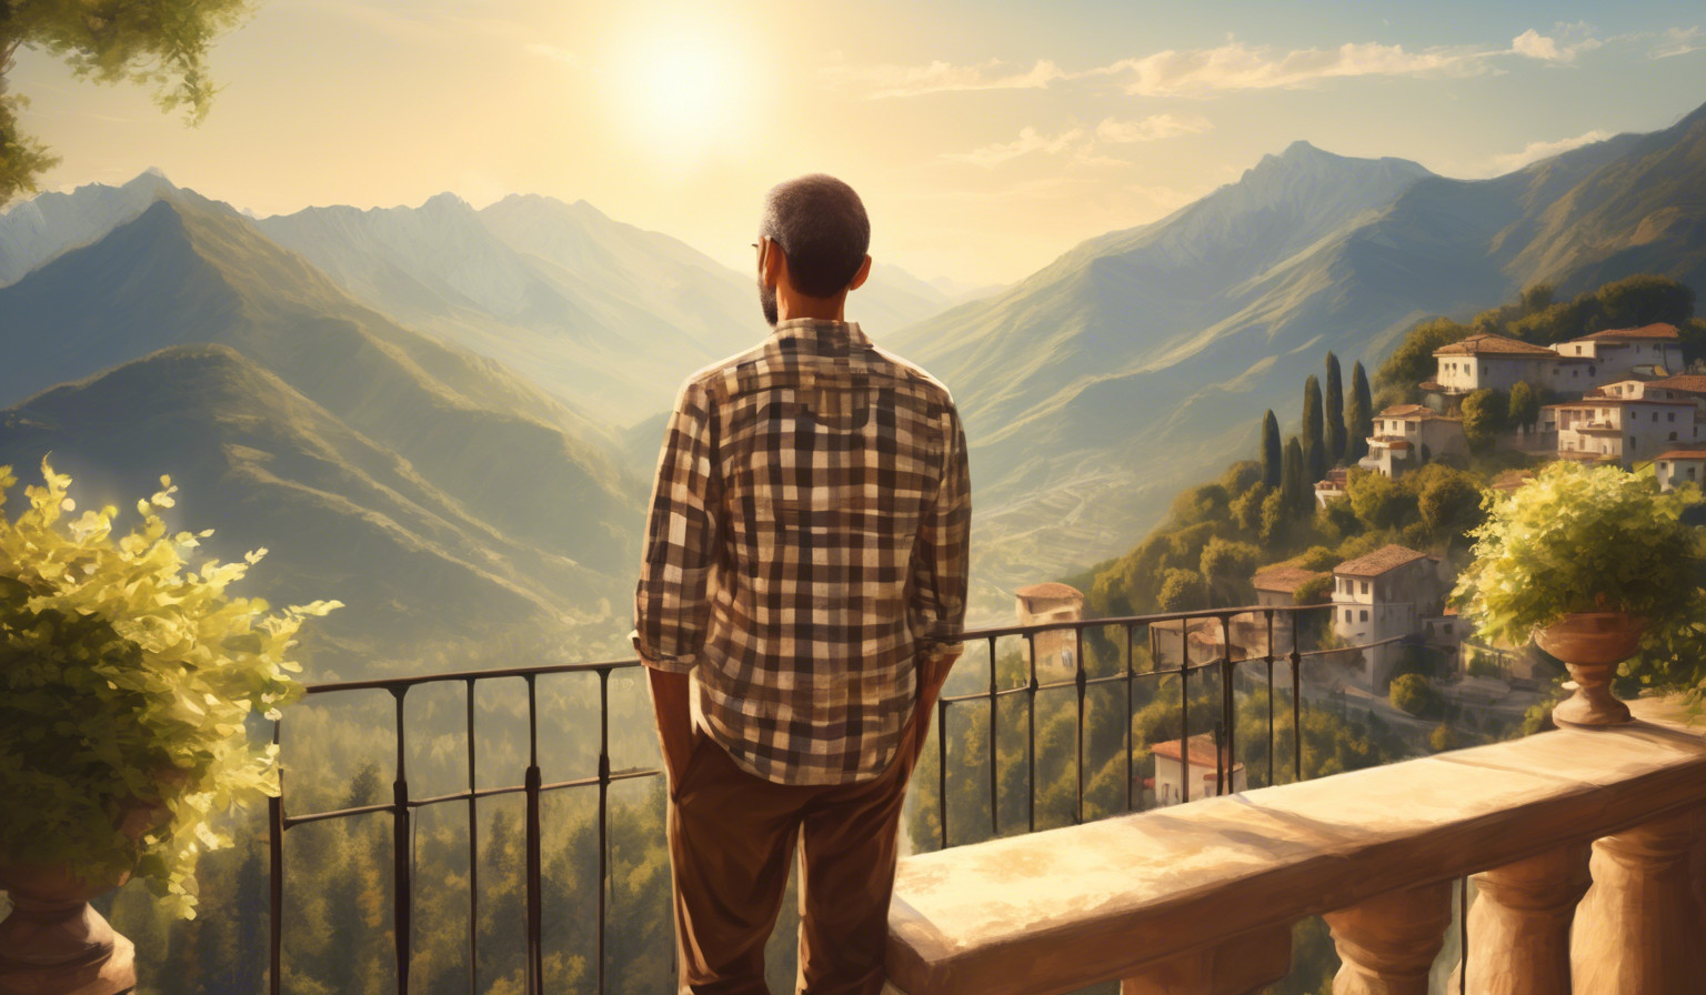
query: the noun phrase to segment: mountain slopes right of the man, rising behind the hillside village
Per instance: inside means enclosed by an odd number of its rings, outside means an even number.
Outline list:
[[[978,565],[1012,587],[1123,551],[1254,456],[1329,350],[1373,374],[1421,317],[1641,271],[1706,288],[1706,108],[1484,181],[1298,142],[892,345],[960,399]]]

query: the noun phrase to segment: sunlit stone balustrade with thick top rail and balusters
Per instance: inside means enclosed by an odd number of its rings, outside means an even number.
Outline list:
[[[1474,876],[1469,992],[1706,992],[1706,737],[1636,715],[906,858],[892,988],[1261,992],[1322,915],[1336,995],[1425,995]]]

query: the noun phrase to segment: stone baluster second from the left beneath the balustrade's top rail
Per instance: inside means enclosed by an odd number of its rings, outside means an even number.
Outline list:
[[[1389,891],[1324,918],[1343,961],[1332,995],[1428,995],[1452,923],[1452,882]]]

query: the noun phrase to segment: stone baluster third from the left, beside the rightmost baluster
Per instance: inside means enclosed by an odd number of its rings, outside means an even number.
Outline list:
[[[1587,889],[1587,843],[1476,874],[1469,992],[1570,995],[1570,923]],[[1457,992],[1455,973],[1448,990]]]

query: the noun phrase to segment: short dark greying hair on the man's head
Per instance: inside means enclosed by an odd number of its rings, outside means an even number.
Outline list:
[[[786,256],[788,276],[800,294],[834,297],[865,263],[870,218],[851,186],[814,172],[769,189],[759,236]]]

